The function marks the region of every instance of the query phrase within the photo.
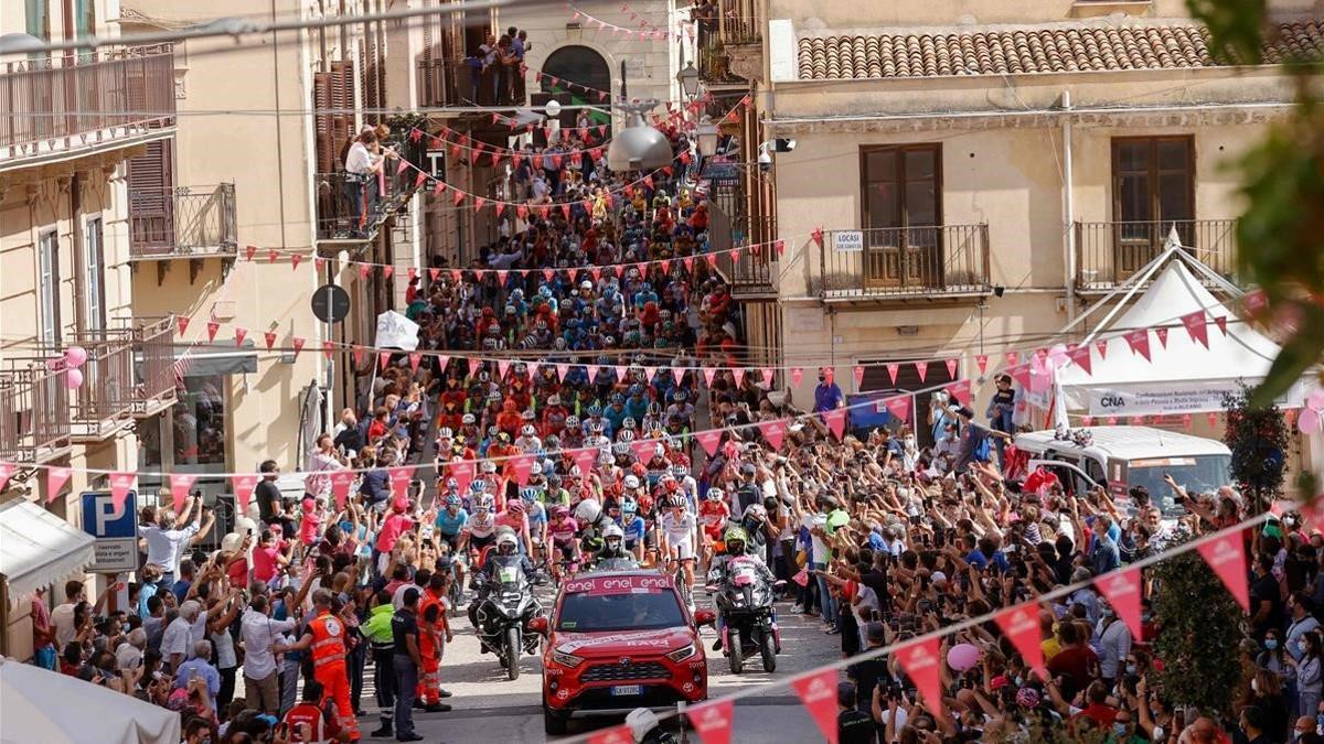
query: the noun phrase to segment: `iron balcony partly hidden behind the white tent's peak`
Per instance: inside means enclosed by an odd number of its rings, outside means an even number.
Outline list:
[[[1173,228],[1196,258],[1235,283],[1237,220],[1076,222],[1076,289],[1103,293],[1125,282],[1162,253]]]

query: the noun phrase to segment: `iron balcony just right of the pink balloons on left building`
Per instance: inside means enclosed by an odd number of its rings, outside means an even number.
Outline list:
[[[66,392],[74,441],[105,440],[132,418],[152,416],[175,402],[175,322],[143,322],[132,328],[86,331],[62,348],[87,351],[83,384]],[[52,351],[49,356],[58,352]],[[60,379],[64,385],[64,379]]]

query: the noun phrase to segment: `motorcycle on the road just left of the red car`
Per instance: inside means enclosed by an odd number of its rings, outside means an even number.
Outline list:
[[[519,679],[520,654],[538,653],[539,635],[528,633],[528,621],[543,614],[534,597],[534,582],[524,576],[520,556],[487,557],[494,561],[494,580],[479,579],[483,592],[474,600],[470,620],[483,651],[496,654],[507,679]],[[475,577],[485,576],[475,573]]]

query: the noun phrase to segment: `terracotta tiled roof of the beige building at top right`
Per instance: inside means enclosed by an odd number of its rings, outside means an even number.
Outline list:
[[[1324,21],[1278,25],[1264,61],[1324,57]],[[1209,32],[1190,23],[1141,25],[1062,23],[984,30],[936,29],[804,37],[797,41],[800,79],[929,78],[1099,70],[1217,68]]]

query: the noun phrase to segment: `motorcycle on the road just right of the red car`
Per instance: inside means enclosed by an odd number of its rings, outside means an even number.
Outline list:
[[[759,654],[763,670],[777,669],[781,653],[781,629],[773,617],[773,590],[785,581],[768,585],[759,572],[757,559],[739,556],[726,567],[726,576],[712,576],[710,585],[722,617],[722,651],[731,661],[731,673],[740,674],[745,659]]]

